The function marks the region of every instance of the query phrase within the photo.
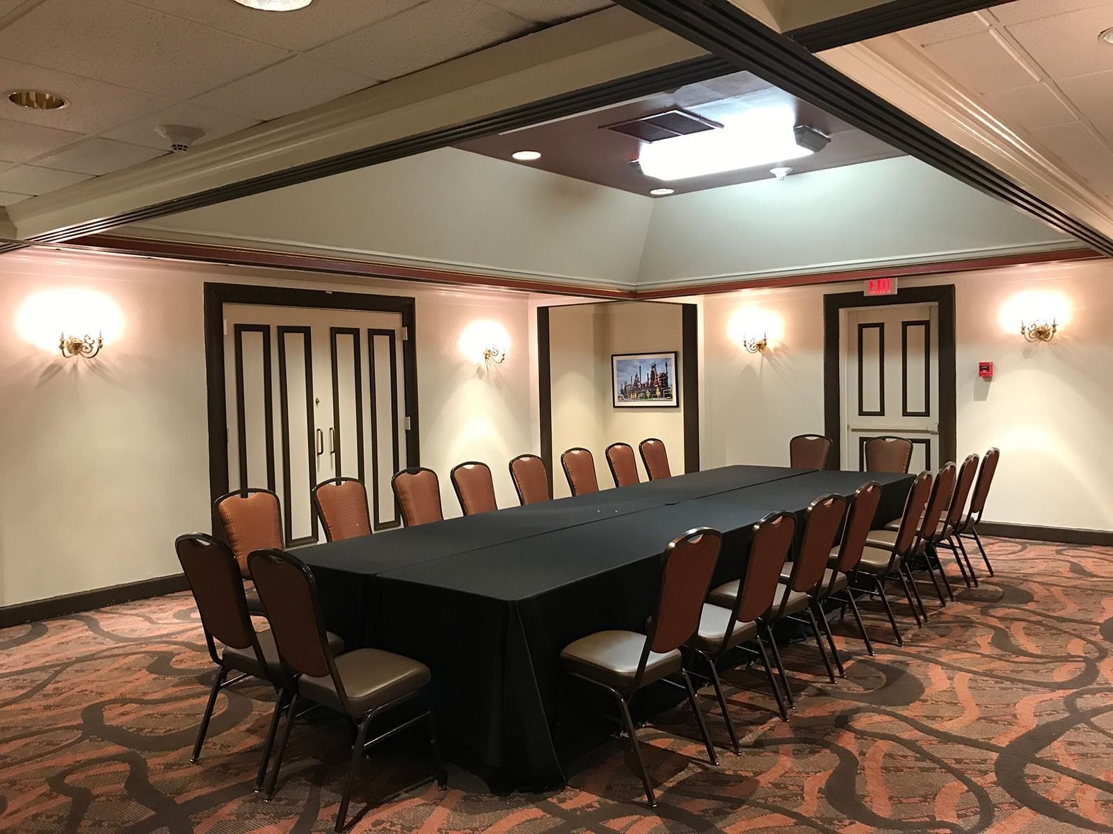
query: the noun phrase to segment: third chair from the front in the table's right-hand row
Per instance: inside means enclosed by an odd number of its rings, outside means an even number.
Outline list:
[[[774,622],[794,619],[797,623],[811,626],[816,647],[819,649],[824,668],[831,683],[835,683],[835,669],[831,668],[827,649],[824,648],[825,635],[839,675],[846,677],[846,672],[843,669],[843,661],[835,648],[835,638],[831,636],[830,626],[827,624],[827,617],[824,616],[818,600],[823,580],[827,576],[827,558],[831,548],[835,547],[835,540],[845,515],[846,498],[834,493],[819,496],[804,510],[804,517],[800,520],[800,526],[804,528],[800,545],[796,550],[796,558],[781,568],[781,584],[777,586],[778,602],[774,603],[772,612],[769,615]],[[799,616],[805,613],[808,615],[808,619]],[[784,675],[784,672],[781,674]],[[785,689],[788,692],[788,703],[794,703],[792,691],[787,677],[785,678]]]

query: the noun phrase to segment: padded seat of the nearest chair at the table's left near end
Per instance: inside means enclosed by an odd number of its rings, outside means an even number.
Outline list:
[[[425,664],[378,648],[357,648],[337,656],[334,663],[353,716],[416,692],[432,678]],[[331,675],[303,676],[298,678],[297,692],[344,712]]]

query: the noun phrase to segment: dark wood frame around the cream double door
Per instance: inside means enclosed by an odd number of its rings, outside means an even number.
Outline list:
[[[413,298],[376,296],[368,292],[328,292],[317,289],[206,282],[205,385],[208,393],[210,499],[216,499],[228,492],[228,403],[224,378],[224,305],[226,304],[401,314],[402,326],[406,329],[406,339],[402,342],[403,398],[405,415],[411,425],[411,428],[406,429],[406,461],[408,466],[420,466],[417,328]]]

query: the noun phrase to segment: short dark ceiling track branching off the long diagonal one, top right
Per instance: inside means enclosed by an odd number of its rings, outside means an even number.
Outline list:
[[[914,26],[934,23],[956,14],[988,9],[1003,2],[1007,0],[890,0],[799,29],[790,29],[785,34],[811,52],[821,52]]]

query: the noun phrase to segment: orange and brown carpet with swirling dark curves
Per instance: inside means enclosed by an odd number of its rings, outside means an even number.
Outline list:
[[[904,648],[887,642],[876,605],[877,657],[839,628],[848,676],[837,685],[814,645],[787,648],[802,693],[788,724],[760,678],[732,673],[739,756],[703,689],[718,768],[690,714],[657,716],[642,732],[656,811],[618,738],[570,763],[565,790],[495,796],[451,767],[437,791],[424,745],[402,737],[365,763],[353,830],[1113,831],[1113,549],[997,540],[989,553],[997,577],[958,592],[924,629],[909,625]],[[296,729],[264,803],[250,786],[269,689],[221,695],[201,762],[189,763],[211,674],[186,594],[0,631],[0,830],[331,831],[344,727]]]

